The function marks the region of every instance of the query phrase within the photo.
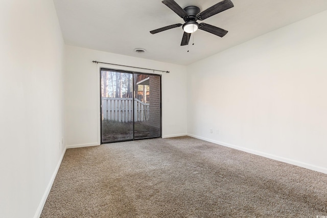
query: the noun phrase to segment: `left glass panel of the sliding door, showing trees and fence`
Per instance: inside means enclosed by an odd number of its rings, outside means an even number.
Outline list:
[[[133,140],[133,74],[101,69],[101,142]]]

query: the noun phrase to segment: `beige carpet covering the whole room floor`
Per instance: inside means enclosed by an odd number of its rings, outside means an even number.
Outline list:
[[[191,137],[67,149],[41,217],[327,216],[327,175]]]

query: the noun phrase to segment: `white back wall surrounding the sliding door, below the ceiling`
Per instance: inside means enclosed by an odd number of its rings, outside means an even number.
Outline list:
[[[142,56],[142,55],[140,55]],[[161,74],[162,137],[186,134],[186,67],[66,46],[65,113],[67,147],[100,144],[100,68],[153,73],[101,63],[170,71]]]

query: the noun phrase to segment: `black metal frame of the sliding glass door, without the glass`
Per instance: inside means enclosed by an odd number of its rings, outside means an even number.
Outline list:
[[[102,71],[114,71],[118,73],[128,73],[132,74],[132,84],[133,84],[133,138],[132,139],[127,139],[127,140],[118,140],[118,141],[113,141],[113,142],[103,142],[102,141]],[[135,119],[134,119],[134,99],[135,99],[135,87],[134,87],[134,75],[135,74],[143,74],[143,75],[149,75],[149,76],[159,76],[159,113],[160,113],[160,135],[156,137],[147,137],[147,138],[140,138],[140,139],[135,139]],[[112,69],[112,68],[104,68],[100,67],[100,144],[108,144],[108,143],[115,143],[115,142],[125,142],[125,141],[137,141],[137,140],[145,140],[145,139],[155,139],[155,138],[161,138],[162,137],[162,100],[161,100],[161,74],[150,74],[150,73],[142,73],[142,72],[135,72],[135,71],[126,71],[126,70],[118,70],[118,69]]]

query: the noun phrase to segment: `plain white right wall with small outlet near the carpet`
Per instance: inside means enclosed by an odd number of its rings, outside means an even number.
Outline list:
[[[326,20],[327,11],[188,66],[188,134],[327,173]]]

